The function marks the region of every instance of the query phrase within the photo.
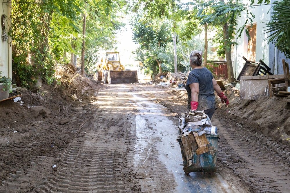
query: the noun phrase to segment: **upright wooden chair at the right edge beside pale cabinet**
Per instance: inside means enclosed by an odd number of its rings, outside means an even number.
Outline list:
[[[289,73],[289,64],[282,59],[284,77],[274,78],[268,80],[270,97],[273,96],[273,93],[278,93],[278,91],[287,91],[287,87],[290,86],[290,73]],[[285,84],[284,86],[276,86],[275,84]]]

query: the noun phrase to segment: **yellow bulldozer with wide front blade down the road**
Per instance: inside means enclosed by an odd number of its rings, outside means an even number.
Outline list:
[[[119,52],[107,52],[105,60],[102,58],[97,67],[98,77],[101,76],[104,83],[138,83],[137,71],[125,70],[120,63]]]

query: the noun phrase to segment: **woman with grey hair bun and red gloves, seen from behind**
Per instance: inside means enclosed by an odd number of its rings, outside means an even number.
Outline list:
[[[187,108],[199,111],[204,110],[204,113],[211,119],[216,109],[214,91],[218,93],[222,103],[228,105],[229,100],[215,81],[211,71],[201,66],[202,52],[192,51],[189,64],[193,70],[189,73],[185,86],[188,96]]]

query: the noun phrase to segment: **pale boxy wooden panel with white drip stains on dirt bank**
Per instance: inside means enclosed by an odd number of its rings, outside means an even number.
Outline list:
[[[268,80],[284,75],[243,76],[241,77],[240,99],[256,100],[260,96],[269,96]],[[282,86],[282,85],[281,85]]]

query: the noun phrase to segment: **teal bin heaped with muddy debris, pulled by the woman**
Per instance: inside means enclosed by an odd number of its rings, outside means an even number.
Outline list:
[[[219,136],[204,111],[186,111],[178,128],[184,172],[215,172]]]

